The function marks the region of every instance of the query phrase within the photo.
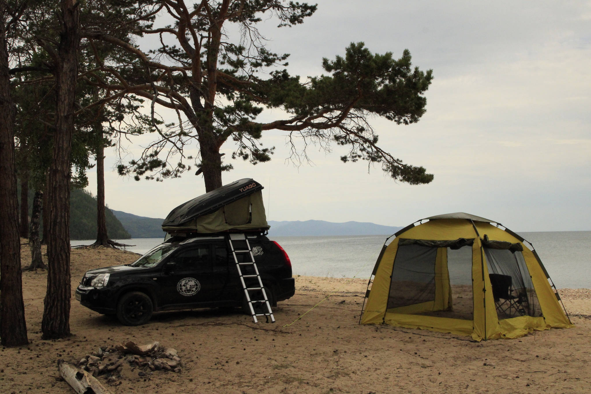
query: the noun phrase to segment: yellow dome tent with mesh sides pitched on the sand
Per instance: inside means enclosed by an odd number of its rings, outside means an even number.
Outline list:
[[[521,236],[463,212],[420,223],[400,230],[382,248],[362,324],[478,341],[573,327],[544,265]]]

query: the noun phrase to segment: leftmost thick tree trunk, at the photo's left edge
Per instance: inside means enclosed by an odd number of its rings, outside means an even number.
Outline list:
[[[14,106],[10,95],[5,15],[4,10],[0,12],[0,336],[4,346],[21,346],[28,344],[28,338],[18,237]]]

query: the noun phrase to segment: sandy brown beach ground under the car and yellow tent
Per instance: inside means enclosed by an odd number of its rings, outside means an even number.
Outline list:
[[[112,249],[72,250],[72,291],[87,269],[136,258]],[[22,261],[30,261],[28,246]],[[238,311],[194,310],[158,312],[149,324],[125,327],[72,297],[73,336],[43,341],[46,277],[43,271],[23,274],[30,345],[2,349],[0,393],[73,393],[59,379],[58,359],[77,361],[99,346],[128,340],[173,347],[186,367],[138,376],[126,366],[111,382],[100,377],[114,394],[591,392],[589,289],[561,291],[576,328],[518,340],[475,343],[431,331],[358,325],[365,280],[298,276],[296,295],[275,308],[275,324],[253,324]]]

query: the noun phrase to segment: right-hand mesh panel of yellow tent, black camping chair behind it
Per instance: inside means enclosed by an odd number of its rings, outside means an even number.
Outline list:
[[[525,315],[540,317],[540,302],[522,253],[486,247],[484,251],[499,320]]]

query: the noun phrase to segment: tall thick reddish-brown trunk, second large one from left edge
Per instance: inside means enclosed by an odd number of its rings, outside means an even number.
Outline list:
[[[62,0],[62,28],[56,63],[56,131],[49,175],[47,294],[43,339],[70,336],[70,153],[80,46],[79,3]]]

